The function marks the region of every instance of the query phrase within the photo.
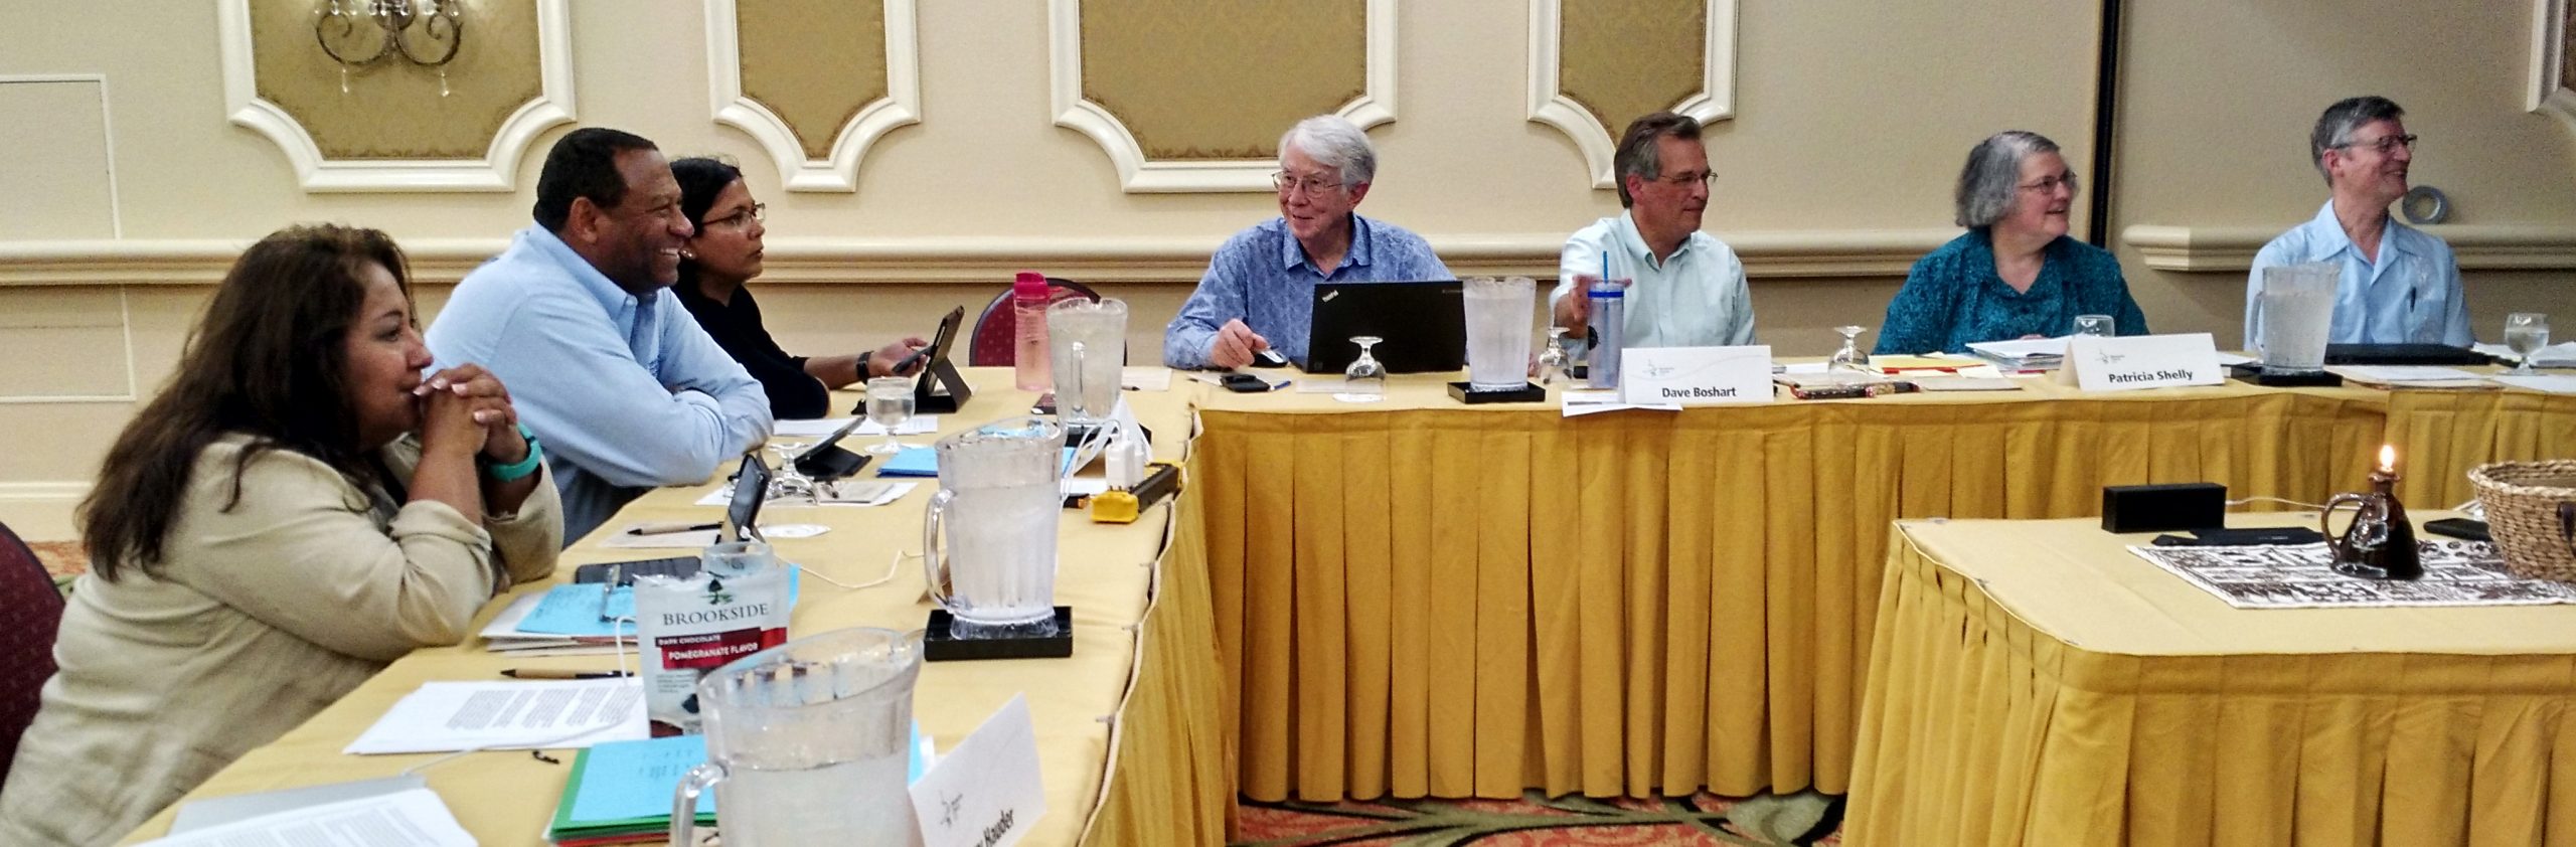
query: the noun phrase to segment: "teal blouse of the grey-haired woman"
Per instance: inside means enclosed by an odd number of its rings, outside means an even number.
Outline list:
[[[2107,250],[2061,234],[2040,250],[2030,291],[2012,291],[1994,273],[1991,234],[1978,227],[1914,260],[1870,353],[1965,353],[1971,342],[2061,337],[2076,330],[2076,314],[2110,314],[2120,335],[2148,332]]]

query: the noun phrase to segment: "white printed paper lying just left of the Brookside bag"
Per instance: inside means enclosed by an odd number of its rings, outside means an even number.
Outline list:
[[[420,682],[345,754],[590,747],[644,739],[644,685],[618,680]]]

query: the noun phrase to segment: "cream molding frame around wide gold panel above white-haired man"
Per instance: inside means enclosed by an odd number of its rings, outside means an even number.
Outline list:
[[[1275,160],[1146,160],[1144,147],[1108,108],[1082,95],[1082,0],[1046,3],[1048,95],[1056,126],[1074,129],[1100,144],[1118,165],[1118,185],[1128,193],[1216,193],[1275,191]],[[1342,103],[1340,116],[1360,129],[1396,118],[1396,0],[1368,0],[1368,88]],[[1285,131],[1288,126],[1280,126]]]

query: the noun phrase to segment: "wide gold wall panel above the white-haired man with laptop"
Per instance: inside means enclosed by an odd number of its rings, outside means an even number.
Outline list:
[[[1267,160],[1365,90],[1365,0],[1082,0],[1082,98],[1146,160]]]

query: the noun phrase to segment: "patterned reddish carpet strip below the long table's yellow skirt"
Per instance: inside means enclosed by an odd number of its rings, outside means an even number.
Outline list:
[[[1342,801],[1236,806],[1234,847],[1625,847],[1839,844],[1842,798],[1821,793],[1721,798]]]

